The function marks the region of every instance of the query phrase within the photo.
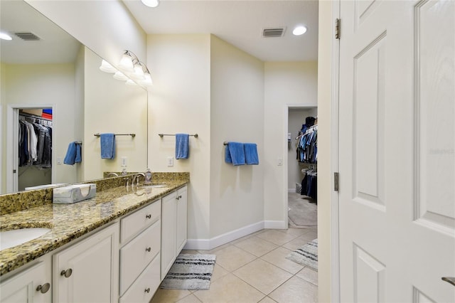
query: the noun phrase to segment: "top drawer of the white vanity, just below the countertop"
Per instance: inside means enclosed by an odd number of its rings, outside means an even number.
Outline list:
[[[120,220],[120,242],[126,243],[129,238],[154,223],[161,216],[161,201],[152,202],[149,206]]]

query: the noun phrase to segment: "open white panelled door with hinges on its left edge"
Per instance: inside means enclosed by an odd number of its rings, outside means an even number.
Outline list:
[[[343,302],[455,302],[455,1],[341,1]]]

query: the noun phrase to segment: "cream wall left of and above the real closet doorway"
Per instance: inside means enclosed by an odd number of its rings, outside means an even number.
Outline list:
[[[266,227],[287,228],[287,105],[317,106],[317,63],[267,62],[264,72],[264,218]]]

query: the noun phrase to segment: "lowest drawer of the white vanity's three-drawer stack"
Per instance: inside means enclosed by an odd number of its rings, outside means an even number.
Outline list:
[[[158,254],[149,266],[147,266],[146,270],[137,278],[136,282],[133,283],[132,287],[129,287],[128,291],[120,298],[119,302],[150,302],[160,284],[159,264]]]

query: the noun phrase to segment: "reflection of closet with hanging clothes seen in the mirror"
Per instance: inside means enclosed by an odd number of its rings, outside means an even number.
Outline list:
[[[17,191],[52,183],[52,108],[16,109]],[[14,172],[14,171],[13,171]]]

